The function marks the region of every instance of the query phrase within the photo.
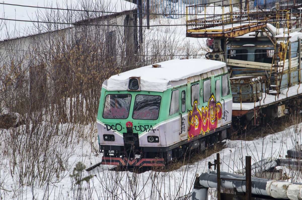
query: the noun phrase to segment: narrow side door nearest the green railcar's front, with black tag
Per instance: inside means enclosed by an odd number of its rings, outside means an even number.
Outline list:
[[[179,115],[180,115],[180,132],[179,135],[181,139],[187,136],[187,121],[188,121],[188,113],[186,111],[186,100],[187,100],[187,87],[180,88],[180,108],[179,108]]]

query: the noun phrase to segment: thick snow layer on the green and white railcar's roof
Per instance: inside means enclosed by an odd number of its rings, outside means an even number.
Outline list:
[[[140,77],[141,90],[163,92],[167,90],[170,81],[186,79],[226,66],[226,63],[205,59],[175,59],[156,64],[161,67],[153,68],[149,65],[111,76],[107,81],[107,90],[127,90],[129,78]]]

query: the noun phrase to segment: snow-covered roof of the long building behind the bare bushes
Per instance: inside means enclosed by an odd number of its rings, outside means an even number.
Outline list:
[[[1,18],[12,19],[12,20],[1,20],[0,23],[0,41],[15,39],[19,37],[27,37],[30,35],[37,34],[37,27],[46,27],[45,23],[28,22],[28,21],[45,21],[45,18],[49,13],[52,16],[61,16],[61,20],[53,22],[63,22],[66,23],[65,18],[71,18],[71,23],[75,23],[76,12],[80,11],[66,11],[66,10],[56,10],[56,9],[46,9],[46,8],[36,8],[36,7],[47,7],[47,8],[63,8],[63,9],[74,9],[74,10],[93,10],[94,7],[98,8],[102,12],[98,12],[97,15],[105,16],[112,15],[113,13],[106,12],[124,12],[130,11],[137,8],[137,5],[125,0],[58,0],[47,1],[47,0],[4,0],[3,3],[14,4],[14,5],[1,5]],[[34,6],[23,7],[17,5]],[[68,14],[67,14],[68,12]],[[74,14],[71,14],[74,12]],[[55,14],[54,14],[55,13]],[[82,12],[83,14],[83,12]],[[98,16],[93,16],[98,17]],[[24,20],[24,21],[14,21],[14,20]],[[50,21],[53,18],[50,19]],[[47,20],[46,20],[47,21]],[[54,27],[54,26],[53,26]],[[66,25],[66,27],[72,27],[72,24]],[[47,30],[47,29],[45,29]],[[51,30],[54,31],[54,30]],[[42,31],[43,32],[43,31]],[[46,31],[44,31],[46,32]]]

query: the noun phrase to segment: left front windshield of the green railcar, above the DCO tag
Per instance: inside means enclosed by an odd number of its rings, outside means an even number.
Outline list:
[[[130,110],[130,94],[110,94],[106,96],[103,118],[127,119]]]

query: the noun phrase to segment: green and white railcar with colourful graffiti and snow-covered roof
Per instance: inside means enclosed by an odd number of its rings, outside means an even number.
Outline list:
[[[175,59],[111,76],[102,85],[102,164],[162,166],[226,138],[232,95],[226,64]]]

